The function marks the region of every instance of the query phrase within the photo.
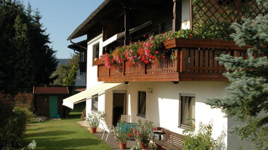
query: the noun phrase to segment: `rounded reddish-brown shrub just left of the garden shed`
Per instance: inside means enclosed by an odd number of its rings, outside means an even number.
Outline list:
[[[20,108],[26,108],[28,109],[30,112],[33,112],[34,110],[34,105],[33,105],[33,94],[32,93],[18,93],[15,97],[14,97],[16,104],[18,107]]]

